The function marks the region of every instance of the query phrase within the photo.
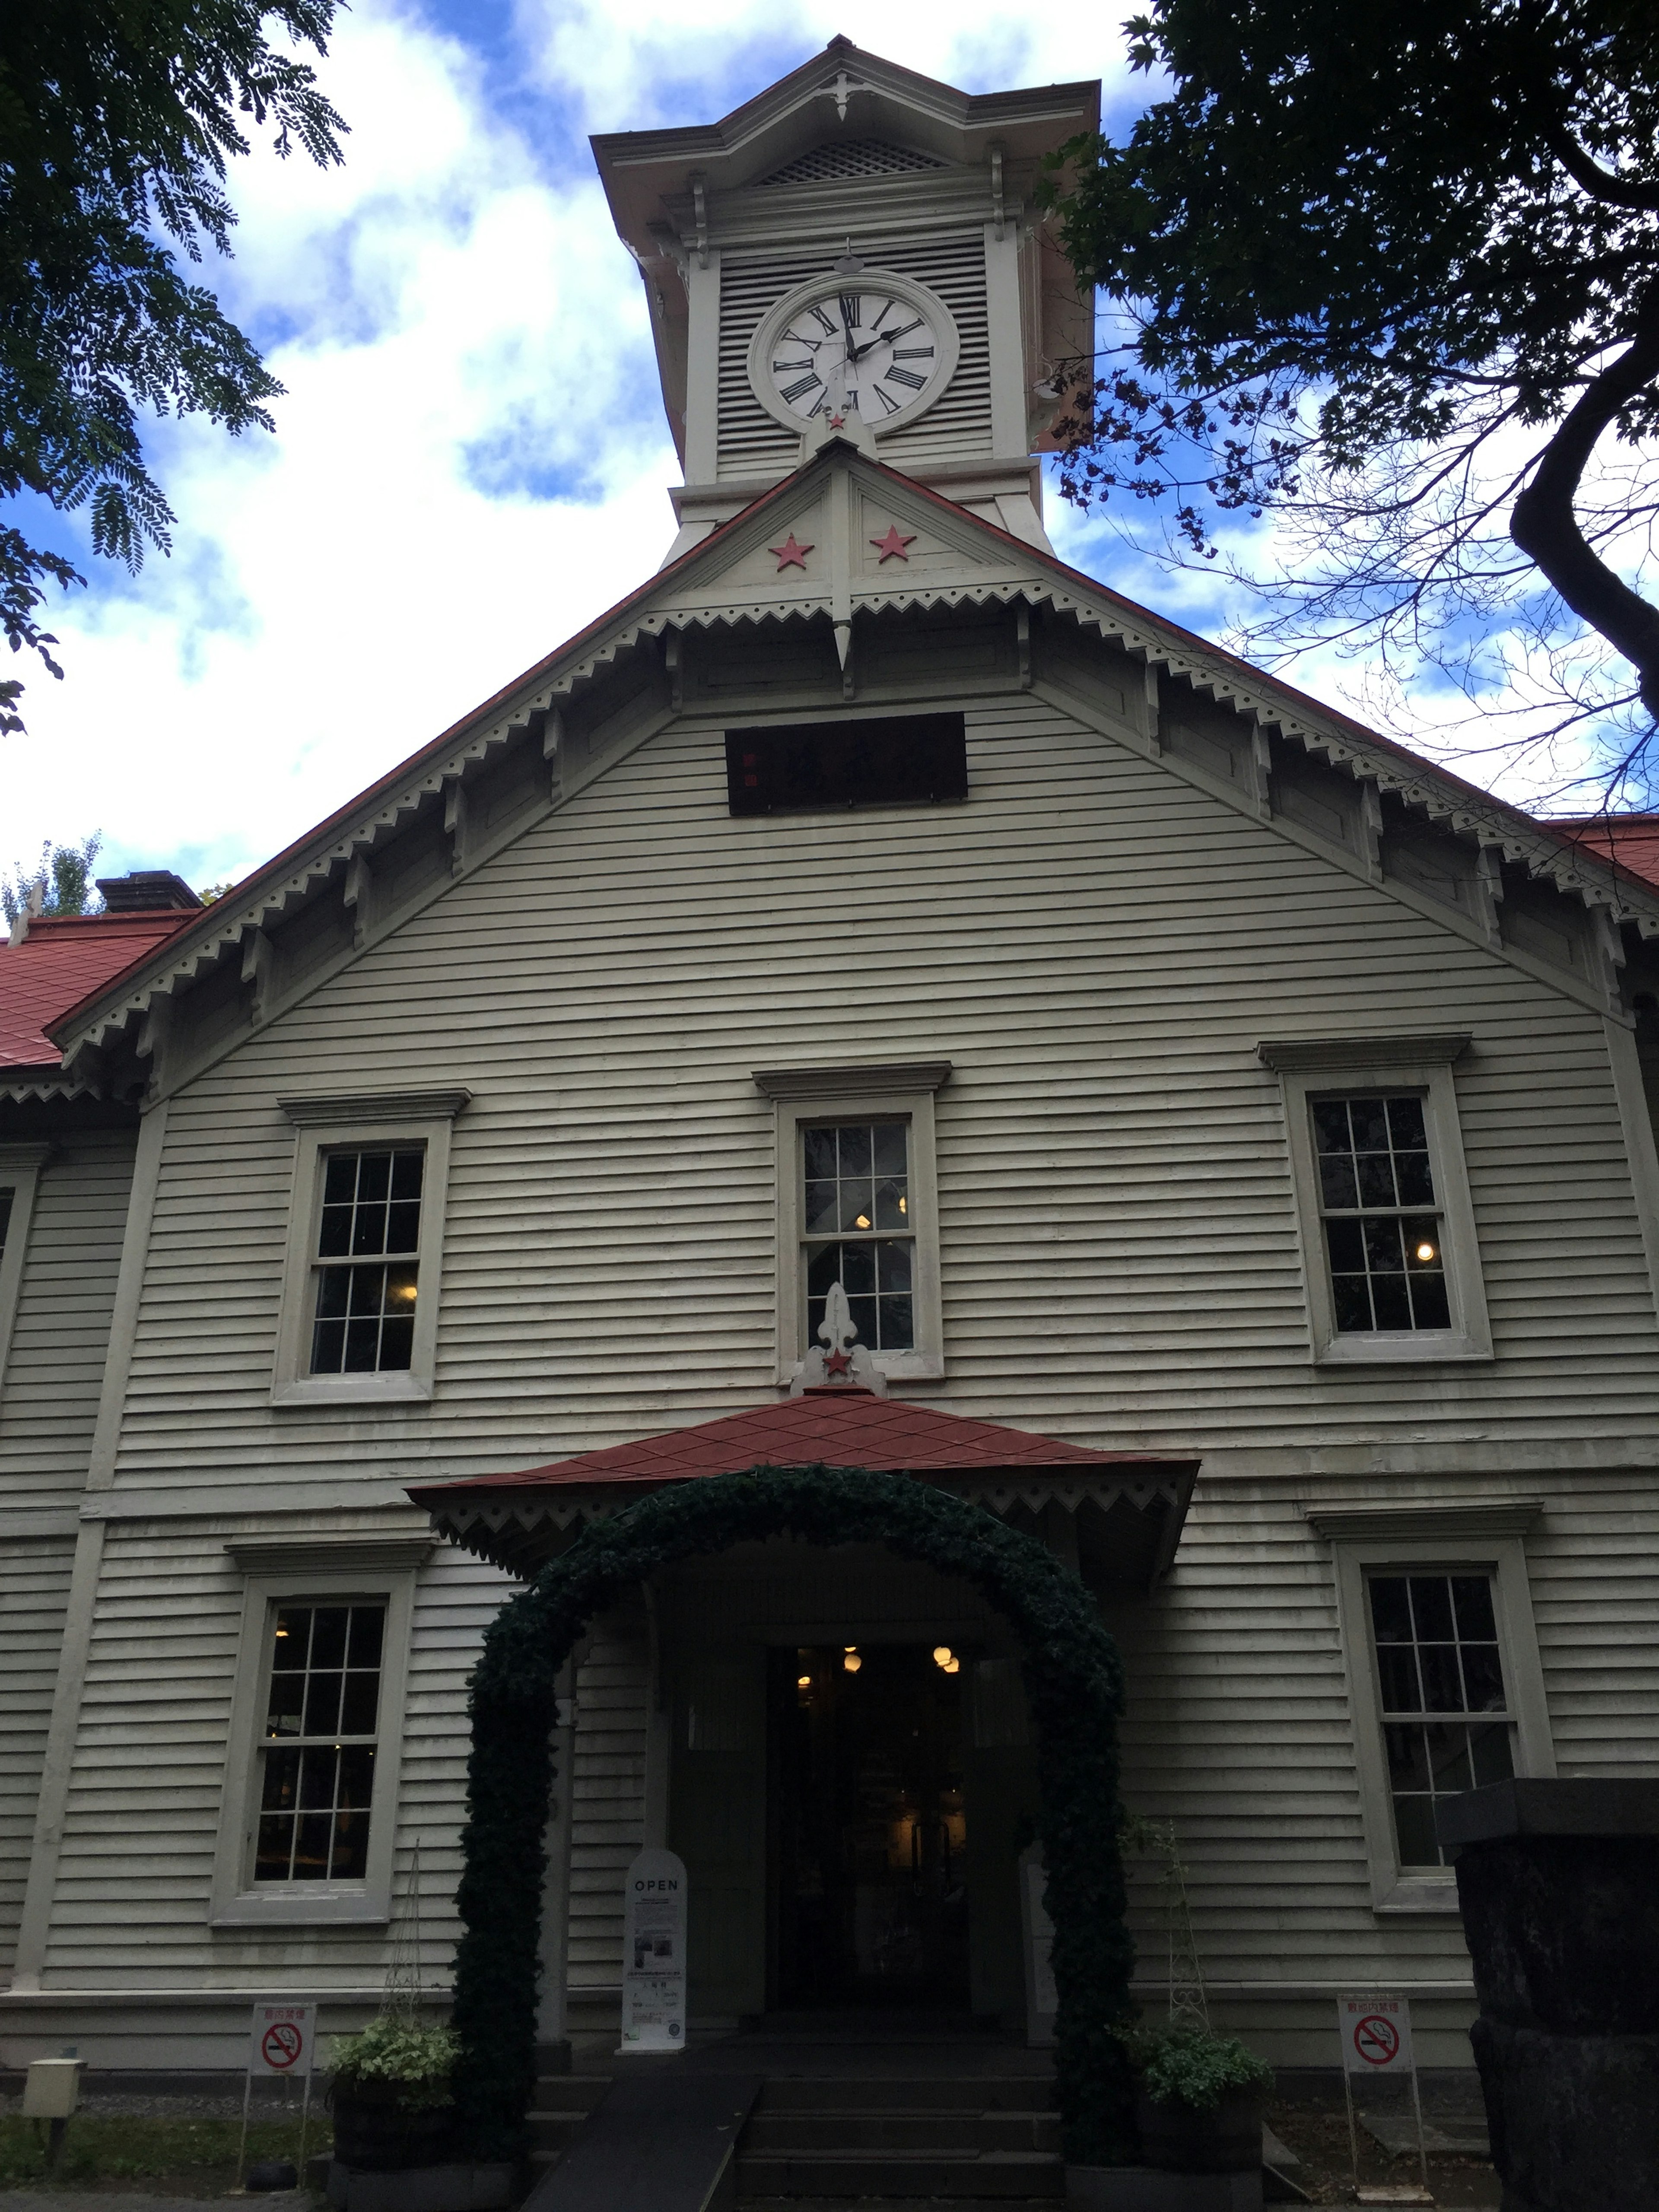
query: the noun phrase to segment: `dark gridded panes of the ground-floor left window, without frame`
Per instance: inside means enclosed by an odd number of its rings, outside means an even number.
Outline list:
[[[257,1882],[361,1882],[369,1869],[385,1606],[276,1613],[261,1743]]]

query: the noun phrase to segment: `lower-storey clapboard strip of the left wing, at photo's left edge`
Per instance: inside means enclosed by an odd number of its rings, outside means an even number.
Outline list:
[[[11,1542],[0,1555],[0,1975],[18,1944],[73,1564],[69,1537]]]

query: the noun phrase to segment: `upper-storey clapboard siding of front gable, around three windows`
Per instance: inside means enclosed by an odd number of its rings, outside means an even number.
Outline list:
[[[1254,1044],[1425,1026],[1475,1031],[1458,1102],[1498,1360],[1316,1371]],[[962,807],[734,823],[717,734],[666,732],[190,1084],[122,1475],[223,1480],[274,1433],[288,1480],[327,1482],[343,1440],[484,1471],[752,1402],[772,1371],[772,1135],[748,1071],[916,1053],[958,1071],[951,1409],[1223,1462],[1652,1438],[1655,1310],[1599,1020],[1018,699],[971,714]],[[274,1420],[292,1164],[274,1099],[414,1062],[476,1091],[440,1396]]]

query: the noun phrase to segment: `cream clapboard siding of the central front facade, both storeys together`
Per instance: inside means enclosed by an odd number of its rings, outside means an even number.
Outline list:
[[[299,1511],[345,1526],[420,1475],[768,1400],[772,1110],[750,1071],[790,1062],[956,1066],[949,1374],[918,1396],[1206,1455],[1170,1584],[1113,1619],[1128,1794],[1181,1827],[1217,1982],[1467,1975],[1455,1924],[1371,1911],[1310,1486],[1544,1495],[1528,1555],[1562,1770],[1652,1770],[1659,1345],[1601,1020],[1033,695],[971,699],[969,745],[964,805],[732,821],[719,732],[670,726],[173,1099],[113,1504],[179,1520],[108,1540],[53,1978],[243,1986],[281,1962],[376,1982],[380,1931],[206,1924],[241,1617],[223,1535]],[[1316,1371],[1254,1046],[1422,1029],[1475,1037],[1455,1088],[1498,1358]],[[276,1099],[409,1082],[473,1091],[438,1394],[272,1409],[294,1159]],[[188,1520],[221,1486],[243,1517]],[[434,1962],[465,1679],[504,1588],[458,1555],[420,1575],[398,1882],[418,1840]],[[619,1617],[580,1670],[568,1778],[591,2011],[619,1978],[646,1703],[644,1626]],[[1155,1958],[1144,1880],[1137,1916]]]

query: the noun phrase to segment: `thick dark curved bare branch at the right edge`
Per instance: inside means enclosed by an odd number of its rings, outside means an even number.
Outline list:
[[[1601,431],[1619,409],[1659,378],[1659,283],[1637,312],[1637,336],[1615,363],[1590,378],[1544,447],[1537,473],[1515,500],[1509,535],[1575,615],[1621,653],[1641,679],[1641,703],[1659,719],[1659,608],[1648,606],[1599,560],[1573,513],[1573,498]]]

